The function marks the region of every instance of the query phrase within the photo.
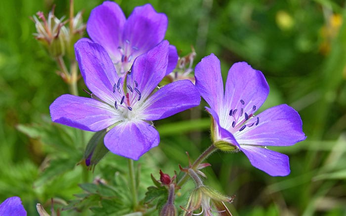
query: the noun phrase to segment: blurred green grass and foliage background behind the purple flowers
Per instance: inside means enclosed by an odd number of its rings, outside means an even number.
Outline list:
[[[87,21],[91,9],[101,2],[75,0],[75,11],[84,10]],[[306,141],[272,148],[290,156],[291,175],[270,177],[253,168],[243,154],[217,152],[208,159],[212,168],[205,169],[206,183],[227,195],[236,194],[230,205],[234,216],[346,215],[344,1],[117,2],[127,16],[134,6],[146,2],[166,13],[166,39],[181,55],[189,53],[193,45],[195,64],[213,52],[221,60],[224,76],[237,61],[247,61],[262,71],[271,91],[261,109],[287,103],[300,112]],[[37,11],[47,14],[53,4],[58,18],[68,14],[69,0],[0,2],[0,201],[20,196],[29,215],[38,215],[38,202],[49,209],[51,198],[56,205],[76,199],[74,194],[82,200],[84,196],[99,200],[99,191],[93,191],[90,184],[79,187],[82,182],[106,180],[126,188],[126,182],[117,182],[119,174],[127,175],[126,159],[109,153],[93,173],[85,174],[83,165],[76,164],[91,134],[82,139],[79,130],[49,121],[49,105],[68,93],[68,87],[55,73],[54,61],[34,39],[35,26],[29,17]],[[80,80],[80,95],[87,96],[83,88]],[[135,163],[142,171],[138,176],[141,199],[152,185],[151,173],[159,179],[162,169],[173,176],[178,164],[188,163],[185,151],[196,158],[210,145],[204,106],[155,122],[161,143]],[[102,189],[112,192],[113,198],[119,196],[114,188]],[[184,205],[186,193],[188,189],[177,197],[178,205]],[[112,206],[109,200],[103,200],[104,206]],[[126,198],[122,201],[127,202]],[[93,207],[97,213],[93,205],[82,202],[72,208]]]

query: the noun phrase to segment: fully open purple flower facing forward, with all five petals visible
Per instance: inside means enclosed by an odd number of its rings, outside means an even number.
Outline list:
[[[115,154],[139,159],[160,142],[152,120],[200,103],[200,94],[189,80],[157,88],[167,70],[167,40],[137,57],[131,72],[121,77],[99,44],[82,40],[75,49],[91,98],[60,96],[50,105],[52,121],[88,131],[108,128],[104,144]]]

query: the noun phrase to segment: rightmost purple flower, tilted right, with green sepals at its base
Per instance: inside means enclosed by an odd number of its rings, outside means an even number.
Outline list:
[[[245,62],[235,63],[229,69],[223,92],[220,62],[211,54],[197,64],[195,76],[196,87],[214,118],[214,144],[221,149],[243,151],[254,167],[271,176],[288,175],[288,156],[265,146],[287,146],[305,140],[302,120],[285,104],[255,115],[269,93],[262,72]]]

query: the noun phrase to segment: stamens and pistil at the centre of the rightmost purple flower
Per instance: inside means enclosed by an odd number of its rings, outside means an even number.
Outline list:
[[[238,107],[238,106],[237,106]],[[254,116],[254,112],[256,111],[256,106],[254,105],[248,112],[244,112],[245,101],[240,100],[240,106],[238,108],[231,109],[229,111],[229,116],[233,118],[232,128],[236,131],[242,131],[246,127],[253,127],[259,124],[259,117]]]

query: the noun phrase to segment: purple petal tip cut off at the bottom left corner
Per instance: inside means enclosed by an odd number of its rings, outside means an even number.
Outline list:
[[[0,216],[26,216],[19,197],[9,197],[0,204]]]

